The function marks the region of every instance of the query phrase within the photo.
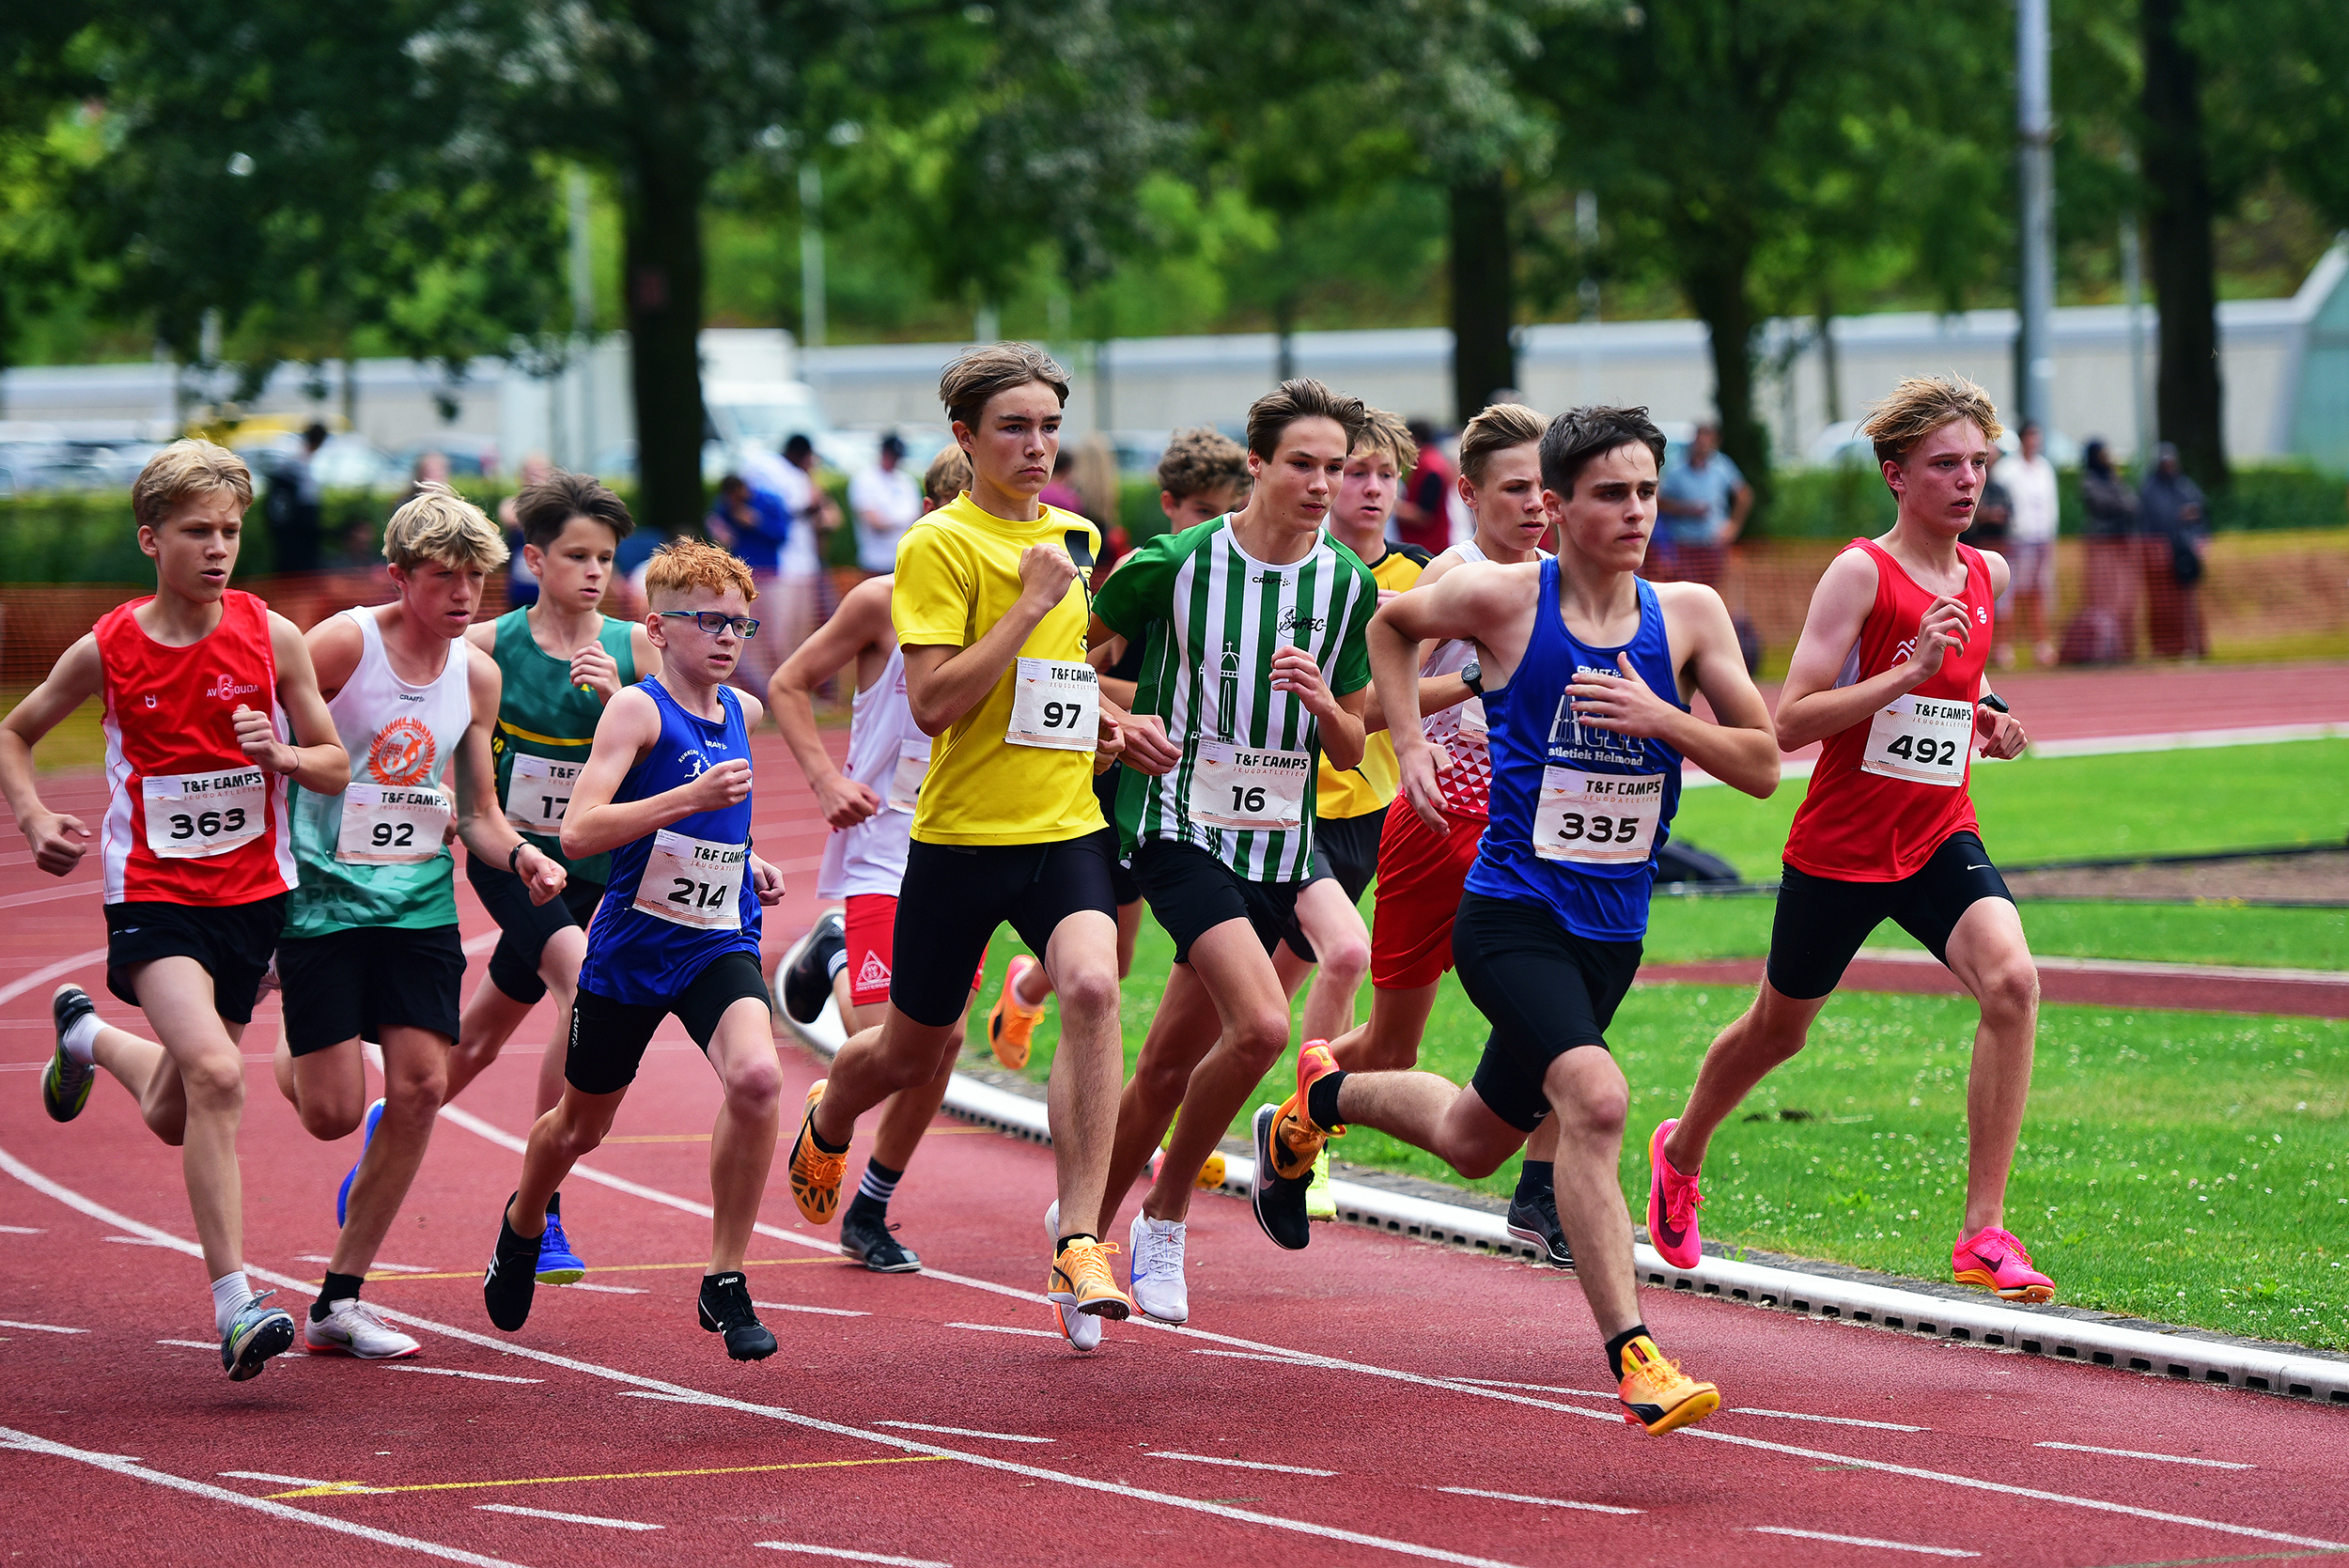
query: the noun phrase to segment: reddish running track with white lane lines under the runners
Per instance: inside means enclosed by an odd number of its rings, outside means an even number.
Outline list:
[[[2185,725],[2121,732],[2154,728]],[[756,831],[794,878],[780,944],[813,906],[817,824],[780,746],[759,761]],[[1191,1329],[1111,1326],[1076,1357],[1034,1298],[1050,1157],[944,1124],[893,1204],[918,1277],[839,1263],[778,1171],[749,1275],[787,1303],[766,1312],[785,1350],[735,1366],[693,1326],[716,1094],[674,1026],[590,1160],[606,1181],[566,1188],[601,1289],[540,1291],[519,1336],[479,1310],[533,1021],[444,1120],[385,1246],[399,1268],[369,1284],[425,1357],[282,1357],[230,1385],[171,1150],[113,1084],[70,1129],[40,1115],[47,991],[101,986],[96,897],[54,892],[0,854],[0,1488],[38,1500],[14,1516],[26,1561],[2109,1566],[2349,1545],[2337,1411],[1651,1293],[1727,1408],[1647,1439],[1609,1411],[1571,1279],[1341,1228],[1280,1253],[1233,1202],[1193,1211]],[[247,1256],[310,1282],[357,1141],[301,1136],[272,1038],[275,1007],[249,1035]],[[785,1061],[796,1101],[813,1066]]]

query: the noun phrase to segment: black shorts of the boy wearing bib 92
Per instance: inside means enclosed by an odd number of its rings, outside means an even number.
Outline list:
[[[385,1028],[425,1028],[456,1042],[465,944],[453,925],[385,925],[277,944],[287,1049],[296,1056],[345,1040],[383,1042]]]

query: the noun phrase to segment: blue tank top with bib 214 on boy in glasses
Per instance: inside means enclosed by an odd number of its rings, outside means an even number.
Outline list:
[[[719,763],[749,761],[749,730],[733,690],[719,688],[723,721],[677,707],[658,676],[646,676],[637,690],[660,709],[660,739],[627,770],[613,800],[648,800],[691,784]],[[745,796],[719,812],[693,812],[611,852],[611,883],[587,930],[587,960],[580,965],[585,991],[637,1007],[667,1007],[723,953],[759,958],[749,805],[752,798]],[[740,885],[733,922],[726,922],[723,908],[728,883]],[[662,913],[648,913],[646,906]]]

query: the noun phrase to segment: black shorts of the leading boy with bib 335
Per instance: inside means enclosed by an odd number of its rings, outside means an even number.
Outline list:
[[[1534,1131],[1550,1115],[1550,1063],[1581,1045],[1607,1049],[1640,944],[1576,937],[1539,904],[1470,892],[1452,920],[1452,962],[1492,1023],[1470,1082],[1496,1117]]]

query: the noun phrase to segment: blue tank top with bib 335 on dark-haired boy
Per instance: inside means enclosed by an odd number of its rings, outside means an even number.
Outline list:
[[[1682,711],[1656,589],[1640,589],[1640,631],[1628,648],[1586,648],[1557,610],[1557,561],[1541,563],[1541,606],[1525,662],[1485,692],[1492,817],[1468,869],[1468,892],[1541,904],[1590,941],[1640,941],[1656,850],[1680,810],[1680,753],[1576,723],[1567,683],[1579,671],[1633,664],[1651,692]],[[1541,850],[1536,850],[1536,840]]]

